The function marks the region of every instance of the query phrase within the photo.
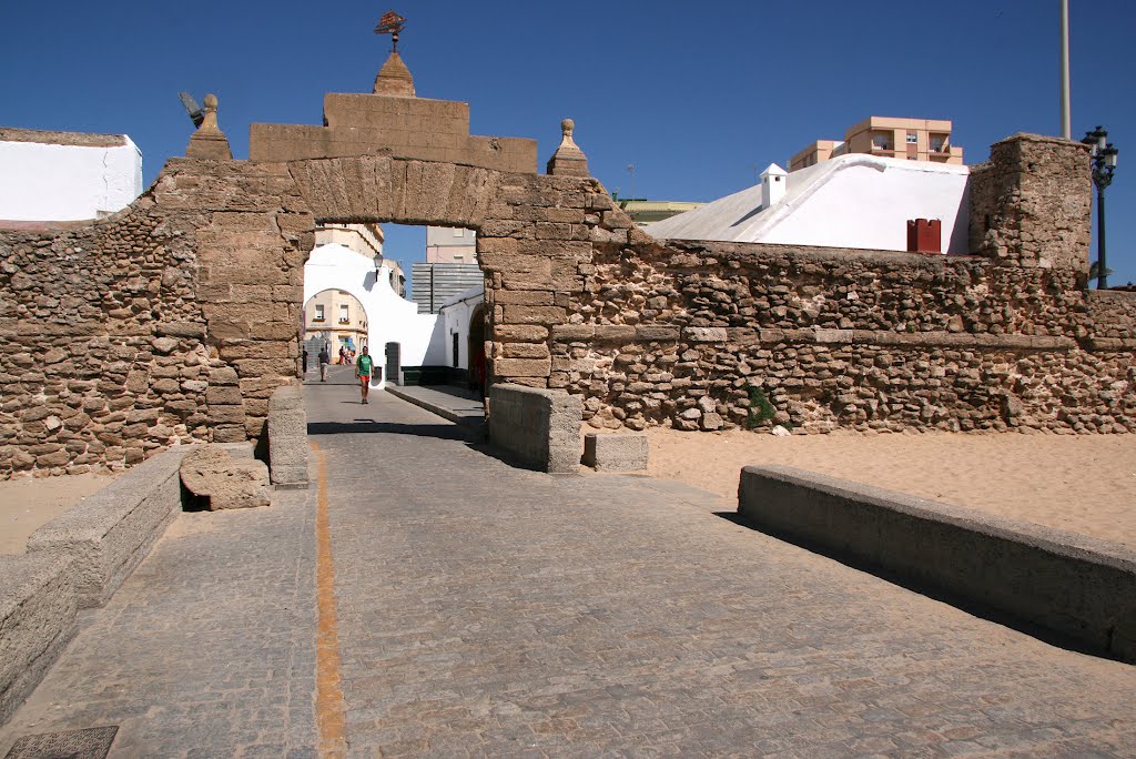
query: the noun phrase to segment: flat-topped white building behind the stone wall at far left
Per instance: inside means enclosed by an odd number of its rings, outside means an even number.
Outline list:
[[[0,127],[0,219],[95,219],[140,194],[142,153],[125,134]]]

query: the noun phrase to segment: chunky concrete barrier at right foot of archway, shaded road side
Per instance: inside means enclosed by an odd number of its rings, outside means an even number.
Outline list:
[[[562,390],[499,384],[490,390],[490,442],[541,472],[579,469],[584,403]]]

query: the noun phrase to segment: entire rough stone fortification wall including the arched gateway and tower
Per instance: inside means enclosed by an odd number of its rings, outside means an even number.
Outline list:
[[[1136,301],[1086,290],[1079,143],[994,145],[974,255],[925,257],[653,240],[567,122],[546,175],[465,103],[328,95],[325,123],[254,125],[254,160],[210,132],[220,158],[116,216],[0,232],[0,476],[262,439],[319,222],[476,230],[492,381],[580,395],[592,426],[1136,429]]]

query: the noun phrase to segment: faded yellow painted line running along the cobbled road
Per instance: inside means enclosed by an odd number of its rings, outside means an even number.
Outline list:
[[[327,461],[319,445],[316,454],[319,494],[316,501],[316,724],[319,728],[319,756],[343,757],[343,689],[340,687],[340,635],[335,616],[335,565],[332,564],[332,532],[327,518]]]

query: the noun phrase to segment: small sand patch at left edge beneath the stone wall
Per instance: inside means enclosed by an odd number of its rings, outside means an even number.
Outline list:
[[[23,553],[36,527],[78,506],[114,478],[82,474],[0,481],[0,554]]]

